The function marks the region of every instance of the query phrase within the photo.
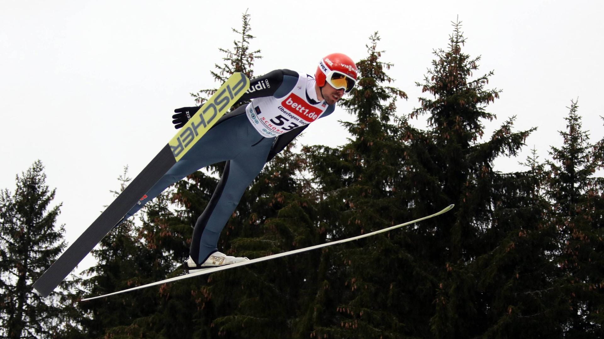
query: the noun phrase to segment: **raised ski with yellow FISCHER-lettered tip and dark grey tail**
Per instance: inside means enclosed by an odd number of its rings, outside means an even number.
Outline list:
[[[121,221],[130,208],[137,204],[141,196],[147,193],[177,161],[181,160],[248,88],[249,79],[243,73],[234,73],[226,80],[111,205],[40,276],[33,284],[33,288],[43,297],[47,297],[59,286],[59,283]]]

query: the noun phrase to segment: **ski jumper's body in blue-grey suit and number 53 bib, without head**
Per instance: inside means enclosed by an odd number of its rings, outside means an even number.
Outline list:
[[[315,83],[313,77],[289,69],[251,80],[239,101],[252,102],[223,115],[124,219],[185,176],[226,161],[222,178],[193,230],[190,256],[197,263],[204,262],[217,251],[220,232],[265,163],[310,123],[333,112],[335,105],[318,100]],[[194,114],[196,108],[191,111]]]

